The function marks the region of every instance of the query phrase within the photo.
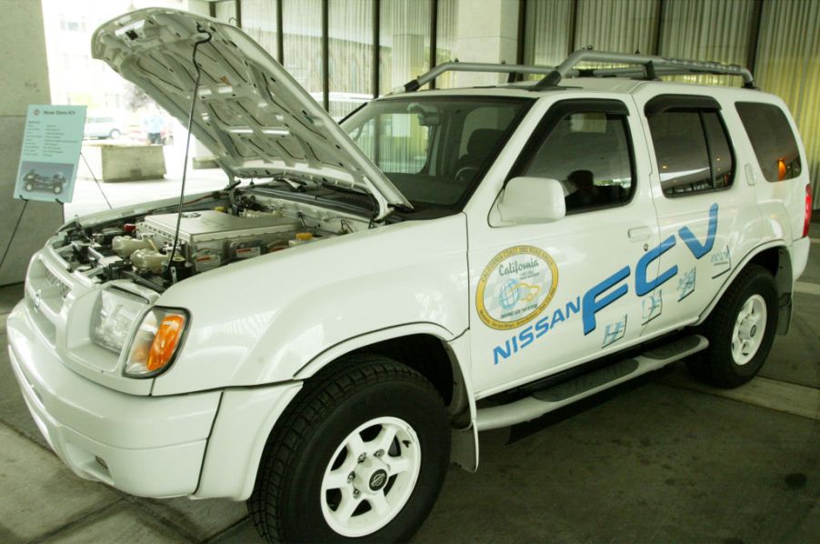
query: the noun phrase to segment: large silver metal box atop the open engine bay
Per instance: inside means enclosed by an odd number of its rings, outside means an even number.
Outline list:
[[[301,227],[287,217],[236,217],[215,210],[185,212],[179,226],[180,252],[205,272],[234,259],[255,257],[269,248],[286,246]],[[136,225],[138,237],[152,238],[156,247],[174,243],[176,214],[145,217]]]

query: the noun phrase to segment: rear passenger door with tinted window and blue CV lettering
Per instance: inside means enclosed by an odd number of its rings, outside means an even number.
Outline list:
[[[725,113],[712,96],[639,96],[654,148],[660,228],[655,313],[645,335],[692,323],[759,236],[752,191],[735,166]],[[728,112],[731,113],[731,112]],[[736,122],[734,116],[729,119]]]

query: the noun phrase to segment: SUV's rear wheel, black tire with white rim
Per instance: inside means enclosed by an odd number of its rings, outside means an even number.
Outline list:
[[[764,267],[749,265],[700,327],[709,347],[689,358],[686,366],[705,383],[720,388],[742,386],[763,367],[776,328],[775,278]]]

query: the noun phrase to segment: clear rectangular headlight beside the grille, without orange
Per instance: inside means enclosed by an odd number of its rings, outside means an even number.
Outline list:
[[[147,301],[119,289],[105,289],[97,299],[91,340],[119,355]]]

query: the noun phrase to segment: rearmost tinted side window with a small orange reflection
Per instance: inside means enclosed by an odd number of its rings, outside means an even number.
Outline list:
[[[738,102],[735,108],[766,181],[800,176],[800,151],[783,111],[772,104],[757,102]]]

